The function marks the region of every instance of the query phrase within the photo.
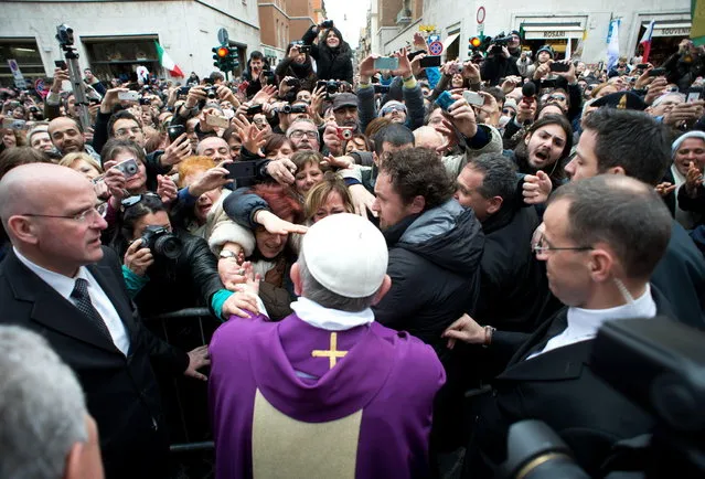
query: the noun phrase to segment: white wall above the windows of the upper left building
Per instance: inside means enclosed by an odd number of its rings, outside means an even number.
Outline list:
[[[186,74],[200,76],[214,70],[211,49],[217,45],[217,31],[224,26],[231,41],[248,45],[248,53],[261,50],[257,2],[217,0],[206,6],[183,1],[154,2],[3,2],[0,15],[0,38],[34,38],[42,54],[47,76],[54,71],[54,60],[62,56],[54,39],[56,25],[67,23],[75,31],[79,64],[87,67],[81,36],[157,34],[159,43]],[[249,26],[228,15],[236,17]]]

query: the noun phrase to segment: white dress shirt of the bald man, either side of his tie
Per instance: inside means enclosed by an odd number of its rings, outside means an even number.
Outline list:
[[[50,272],[39,265],[35,265],[22,254],[13,248],[14,254],[18,256],[18,259],[22,262],[24,266],[30,268],[32,273],[39,276],[44,283],[54,288],[56,292],[66,298],[72,305],[76,305],[76,301],[71,297],[72,291],[76,285],[77,278],[84,278],[88,281],[88,295],[90,296],[90,302],[93,302],[93,307],[98,311],[98,315],[103,318],[105,326],[108,328],[110,332],[110,337],[113,338],[113,342],[115,347],[119,349],[122,354],[127,355],[130,350],[130,339],[127,334],[127,329],[125,324],[120,320],[120,316],[118,315],[115,306],[113,306],[113,301],[105,294],[100,285],[93,277],[88,268],[82,266],[78,268],[78,273],[74,278],[70,278],[68,276],[61,275],[58,273]],[[76,310],[77,316],[83,316],[83,313]]]

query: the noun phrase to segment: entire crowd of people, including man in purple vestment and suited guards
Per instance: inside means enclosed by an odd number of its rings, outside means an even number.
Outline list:
[[[233,81],[7,98],[0,477],[173,477],[181,375],[218,478],[493,477],[526,418],[622,465],[654,418],[598,329],[705,329],[705,50],[600,71],[510,36],[354,65],[324,22]],[[206,344],[143,321],[194,307]]]

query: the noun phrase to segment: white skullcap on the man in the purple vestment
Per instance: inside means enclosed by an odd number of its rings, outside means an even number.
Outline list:
[[[301,242],[306,267],[325,289],[345,298],[365,298],[387,273],[387,244],[370,221],[356,214],[327,216]]]

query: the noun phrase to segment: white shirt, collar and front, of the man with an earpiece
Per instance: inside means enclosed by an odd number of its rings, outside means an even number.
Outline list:
[[[548,340],[543,351],[531,354],[526,360],[564,345],[587,341],[597,336],[602,323],[613,319],[653,318],[656,316],[656,304],[651,297],[651,287],[647,285],[643,295],[628,305],[607,309],[568,308],[568,327],[560,334]]]

